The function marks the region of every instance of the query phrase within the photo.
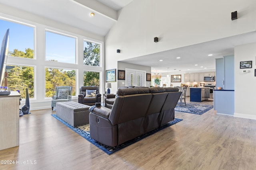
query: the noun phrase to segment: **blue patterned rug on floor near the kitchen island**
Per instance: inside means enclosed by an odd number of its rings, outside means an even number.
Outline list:
[[[180,102],[178,102],[177,106],[174,108],[175,111],[185,112],[185,113],[193,113],[197,115],[202,115],[206,111],[212,109],[212,105],[207,104],[197,104],[197,103],[186,103],[186,106],[184,103],[182,103],[182,106]]]

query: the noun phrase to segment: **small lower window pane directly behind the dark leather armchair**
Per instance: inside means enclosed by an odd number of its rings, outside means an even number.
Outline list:
[[[100,72],[84,71],[84,86],[100,86]]]

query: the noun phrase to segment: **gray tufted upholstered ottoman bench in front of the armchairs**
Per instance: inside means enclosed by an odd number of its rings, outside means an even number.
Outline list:
[[[76,102],[58,102],[56,103],[56,116],[73,127],[88,124],[90,107]]]

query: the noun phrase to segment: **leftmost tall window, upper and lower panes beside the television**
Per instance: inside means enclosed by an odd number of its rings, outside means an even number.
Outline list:
[[[22,57],[34,59],[34,26],[24,25],[6,20],[0,20],[0,37],[7,29],[9,31],[9,57]],[[34,98],[34,66],[8,64],[7,60],[7,86],[9,90],[19,90],[21,98],[26,98],[28,88],[29,98]]]

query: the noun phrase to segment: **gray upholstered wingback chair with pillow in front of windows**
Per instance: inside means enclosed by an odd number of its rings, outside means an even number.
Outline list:
[[[52,110],[56,107],[57,102],[68,102],[72,100],[72,86],[57,86],[55,95],[52,96]]]

